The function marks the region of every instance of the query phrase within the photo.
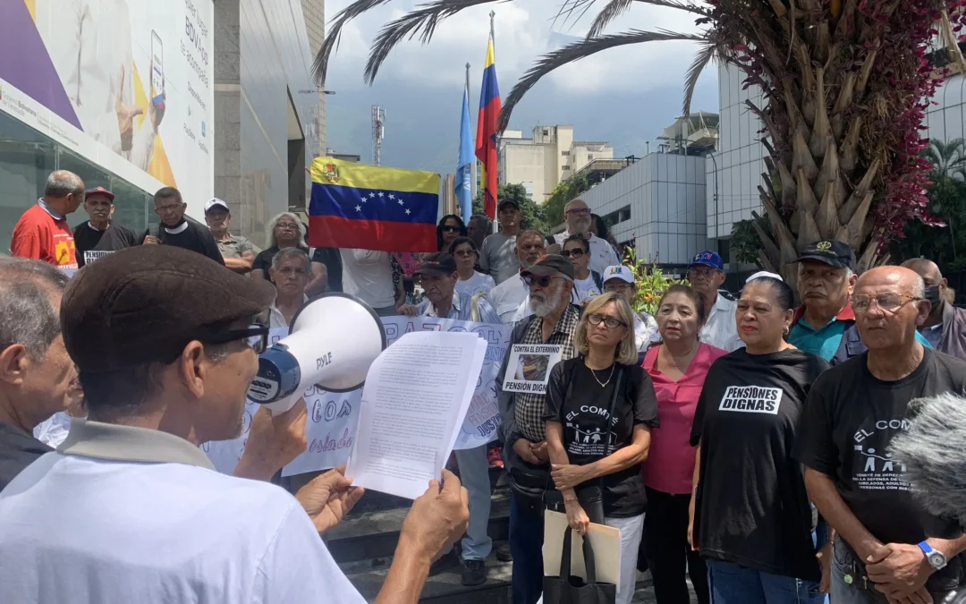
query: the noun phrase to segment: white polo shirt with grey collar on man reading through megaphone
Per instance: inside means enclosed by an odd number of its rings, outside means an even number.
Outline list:
[[[281,488],[220,475],[176,436],[75,419],[0,493],[0,601],[365,599]]]

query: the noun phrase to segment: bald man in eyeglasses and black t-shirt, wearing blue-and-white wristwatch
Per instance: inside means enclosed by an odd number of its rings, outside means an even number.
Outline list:
[[[837,532],[837,604],[941,602],[966,582],[962,529],[914,499],[890,452],[914,417],[912,401],[966,393],[966,361],[916,337],[929,314],[923,290],[922,277],[901,267],[859,277],[851,302],[867,351],[819,376],[799,420],[795,458],[810,501]]]

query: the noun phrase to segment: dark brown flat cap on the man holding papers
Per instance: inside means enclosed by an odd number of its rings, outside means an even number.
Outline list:
[[[137,245],[78,271],[61,302],[61,329],[81,371],[173,359],[193,339],[264,311],[268,280],[249,279],[174,245]]]

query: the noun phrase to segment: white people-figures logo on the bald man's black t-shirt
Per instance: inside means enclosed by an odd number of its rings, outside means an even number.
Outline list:
[[[908,419],[867,421],[852,437],[852,480],[864,491],[909,491],[906,468],[888,452],[895,434],[909,429]]]

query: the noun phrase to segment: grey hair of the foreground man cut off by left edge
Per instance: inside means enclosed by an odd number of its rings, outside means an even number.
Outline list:
[[[24,258],[0,258],[0,350],[22,344],[33,360],[46,357],[60,334],[58,308],[50,296],[64,291],[67,274]]]

